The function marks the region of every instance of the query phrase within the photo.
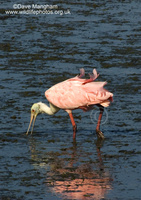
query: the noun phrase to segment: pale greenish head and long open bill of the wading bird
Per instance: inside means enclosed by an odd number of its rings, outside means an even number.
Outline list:
[[[31,134],[33,132],[33,128],[34,128],[34,124],[35,124],[35,120],[36,120],[36,117],[37,115],[41,113],[41,110],[40,110],[40,102],[39,103],[34,103],[31,107],[31,118],[30,118],[30,123],[29,123],[29,127],[28,127],[28,130],[26,132],[26,135],[28,135],[28,132],[29,132],[29,129],[31,127],[31,124],[32,124],[32,130],[31,130]]]

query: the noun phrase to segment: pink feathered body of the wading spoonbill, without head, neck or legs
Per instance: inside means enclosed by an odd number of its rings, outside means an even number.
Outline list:
[[[60,82],[45,92],[47,100],[58,108],[67,112],[77,108],[87,111],[94,104],[100,104],[107,107],[110,101],[113,101],[113,94],[106,89],[106,82],[94,81],[99,74],[96,69],[90,75],[90,79],[83,79],[84,69],[80,70],[81,74],[74,78]]]

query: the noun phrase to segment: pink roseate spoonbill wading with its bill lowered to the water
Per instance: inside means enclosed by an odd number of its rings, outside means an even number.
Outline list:
[[[35,123],[35,119],[39,113],[47,113],[53,115],[60,109],[65,110],[69,116],[73,126],[73,139],[76,138],[77,126],[75,124],[72,110],[82,109],[83,111],[89,111],[94,105],[97,105],[100,109],[100,114],[96,126],[96,133],[99,138],[104,139],[103,133],[100,131],[100,122],[104,107],[108,107],[110,101],[113,101],[113,94],[103,88],[107,82],[94,82],[99,76],[96,69],[93,70],[93,74],[90,74],[89,79],[83,79],[85,75],[84,69],[80,69],[80,75],[74,78],[70,78],[63,82],[60,82],[45,92],[45,96],[49,101],[50,106],[42,102],[34,103],[31,107],[31,119],[27,130],[27,135],[31,127],[32,130]]]

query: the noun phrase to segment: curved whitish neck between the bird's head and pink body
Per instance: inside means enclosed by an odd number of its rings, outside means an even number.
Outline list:
[[[60,110],[60,108],[54,106],[53,104],[50,104],[50,107],[47,106],[45,103],[39,102],[38,103],[40,105],[40,112],[41,113],[46,113],[48,115],[54,115],[56,112],[58,112]]]

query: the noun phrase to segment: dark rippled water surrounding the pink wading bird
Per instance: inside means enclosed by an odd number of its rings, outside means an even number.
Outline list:
[[[0,199],[140,199],[140,1],[36,3],[58,8],[8,15],[16,2],[0,4]],[[96,68],[114,93],[105,141],[96,138],[97,109],[74,111],[76,144],[64,111],[38,116],[26,136],[31,105],[82,67]]]

